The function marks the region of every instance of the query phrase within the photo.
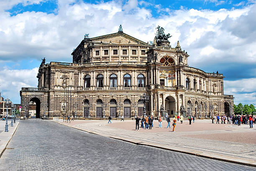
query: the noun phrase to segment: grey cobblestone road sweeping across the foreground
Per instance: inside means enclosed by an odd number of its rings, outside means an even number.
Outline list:
[[[256,170],[97,136],[51,121],[20,121],[0,170]]]

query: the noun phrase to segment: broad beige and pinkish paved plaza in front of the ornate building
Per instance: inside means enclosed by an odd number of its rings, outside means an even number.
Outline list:
[[[55,122],[55,121],[54,121]],[[59,123],[59,122],[58,122]],[[152,130],[135,131],[135,121],[72,121],[61,123],[100,136],[107,136],[138,145],[152,146],[171,151],[238,163],[256,167],[256,128],[248,125],[212,124],[211,120],[177,123],[176,132],[163,128],[154,121]]]

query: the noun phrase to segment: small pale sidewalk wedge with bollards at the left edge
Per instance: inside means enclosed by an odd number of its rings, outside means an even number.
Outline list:
[[[15,133],[19,125],[19,122],[16,121],[16,123],[13,123],[13,126],[10,126],[11,119],[8,119],[8,132],[5,132],[5,123],[6,121],[0,120],[0,157],[5,151],[7,144],[9,143],[10,139],[13,137],[13,134]]]

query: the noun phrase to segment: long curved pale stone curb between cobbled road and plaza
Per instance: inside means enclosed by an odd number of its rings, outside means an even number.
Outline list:
[[[57,121],[53,121],[53,122],[59,123]],[[63,123],[59,123],[59,124],[64,125],[64,126],[68,126],[70,128],[74,128],[74,129],[77,129],[77,130],[80,130],[80,131],[84,131],[84,132],[87,132],[87,133],[92,133],[92,134],[95,134],[95,135],[98,135],[98,136],[105,136],[104,133],[99,134],[99,133],[96,133],[96,132],[93,132],[93,131],[88,131],[88,130],[84,130],[84,129],[81,129],[81,128],[76,128],[74,126],[69,126],[69,125],[66,125],[66,124],[63,124]],[[256,161],[253,161],[253,160],[245,160],[245,159],[242,159],[242,158],[234,158],[234,157],[223,156],[223,155],[219,155],[219,154],[212,154],[212,153],[202,152],[202,151],[198,151],[198,150],[186,149],[186,150],[181,151],[181,150],[176,150],[176,149],[172,148],[172,146],[169,146],[169,148],[166,148],[166,147],[160,146],[159,144],[156,144],[156,143],[148,143],[148,142],[141,142],[141,141],[136,142],[134,140],[131,141],[131,140],[127,140],[127,139],[124,139],[124,138],[119,138],[118,136],[105,136],[105,137],[125,141],[125,142],[128,142],[128,143],[133,143],[133,144],[141,145],[141,146],[150,146],[150,147],[155,147],[155,148],[161,148],[161,149],[164,149],[164,150],[189,154],[189,155],[192,155],[192,156],[198,156],[198,157],[209,158],[209,159],[218,160],[218,161],[225,161],[225,162],[228,162],[228,163],[235,163],[235,164],[240,164],[240,165],[245,165],[245,166],[256,167]]]

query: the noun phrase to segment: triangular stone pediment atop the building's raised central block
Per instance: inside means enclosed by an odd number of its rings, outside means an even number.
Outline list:
[[[111,43],[112,44],[140,44],[140,45],[147,45],[147,43],[138,40],[136,38],[133,38],[130,35],[127,35],[125,33],[113,33],[113,34],[109,34],[109,35],[102,35],[99,37],[95,37],[95,38],[89,38],[86,41],[92,41],[95,43]],[[130,42],[130,43],[129,43]]]

